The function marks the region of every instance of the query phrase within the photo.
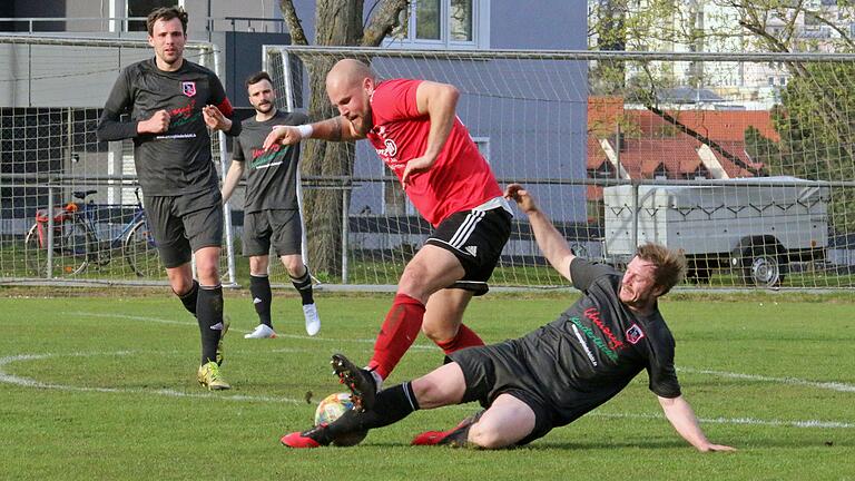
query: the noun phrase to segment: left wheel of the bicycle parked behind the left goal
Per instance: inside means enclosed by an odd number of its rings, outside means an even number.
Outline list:
[[[30,272],[42,277],[48,267],[47,224],[39,239],[39,225],[30,227],[24,239],[27,266]],[[51,275],[77,275],[86,271],[89,263],[88,251],[95,238],[82,222],[71,220],[53,226],[53,263]]]

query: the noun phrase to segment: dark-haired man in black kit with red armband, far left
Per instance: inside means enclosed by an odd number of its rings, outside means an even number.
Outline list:
[[[98,139],[134,139],[134,161],[146,215],[173,292],[196,316],[202,333],[199,384],[225,390],[219,252],[223,200],[208,128],[230,136],[240,124],[217,76],[184,58],[187,12],[158,8],[146,21],[155,58],[119,73],[98,122]],[[128,120],[121,119],[129,115]],[[193,278],[195,255],[198,282]]]

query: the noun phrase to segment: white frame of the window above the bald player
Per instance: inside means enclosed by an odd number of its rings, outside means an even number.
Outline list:
[[[407,7],[410,20],[407,22],[407,38],[397,39],[386,37],[383,40],[384,48],[424,49],[424,50],[475,50],[490,48],[490,0],[472,0],[472,40],[451,40],[451,0],[440,0],[440,39],[425,40],[415,38],[416,2]]]

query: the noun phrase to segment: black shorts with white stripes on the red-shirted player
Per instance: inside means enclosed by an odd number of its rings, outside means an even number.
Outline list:
[[[440,223],[426,244],[442,247],[458,257],[465,276],[453,287],[487,292],[502,248],[511,235],[511,214],[502,207],[465,210]]]

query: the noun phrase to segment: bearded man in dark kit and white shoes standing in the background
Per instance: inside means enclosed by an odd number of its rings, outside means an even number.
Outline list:
[[[306,332],[315,335],[321,328],[321,318],[313,298],[312,277],[301,256],[303,229],[296,192],[299,144],[277,144],[264,149],[264,139],[273,127],[302,125],[308,118],[305,114],[287,114],[276,108],[276,91],[267,72],[250,76],[246,80],[246,89],[255,116],[244,120],[240,135],[235,139],[232,166],[222,190],[223,202],[227,202],[248,168],[244,199],[244,255],[249,257],[249,292],[259,323],[244,337],[276,337],[271,320],[273,294],[267,278],[271,244],[299,293]]]

